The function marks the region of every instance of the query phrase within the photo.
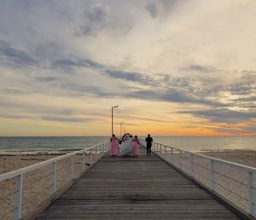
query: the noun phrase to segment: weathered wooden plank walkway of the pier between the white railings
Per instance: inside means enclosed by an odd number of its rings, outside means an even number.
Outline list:
[[[240,219],[158,157],[102,158],[37,220]]]

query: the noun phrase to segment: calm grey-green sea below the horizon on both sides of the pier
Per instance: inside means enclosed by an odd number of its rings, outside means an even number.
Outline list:
[[[141,138],[145,138],[142,136]],[[189,151],[256,150],[256,136],[153,136],[159,142]],[[107,142],[108,136],[12,136],[0,137],[0,153],[75,151]]]

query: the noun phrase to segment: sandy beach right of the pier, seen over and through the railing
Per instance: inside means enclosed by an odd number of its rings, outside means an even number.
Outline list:
[[[256,151],[253,150],[200,150],[195,153],[224,159],[236,164],[256,167]],[[180,163],[179,153],[169,159],[177,167],[191,175],[190,153],[183,153]],[[193,177],[203,183],[207,188],[212,188],[211,160],[194,156]],[[215,192],[222,195],[234,205],[248,212],[248,172],[237,167],[215,162],[214,164]],[[253,194],[256,195],[256,175],[253,175]]]

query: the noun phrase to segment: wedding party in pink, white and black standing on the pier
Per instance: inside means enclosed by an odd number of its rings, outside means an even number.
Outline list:
[[[126,156],[133,155],[135,157],[138,156],[140,142],[137,136],[131,136],[131,134],[127,133],[120,140],[113,134],[110,138],[110,151],[109,154],[111,156]],[[153,138],[148,134],[148,137],[145,139],[147,142],[147,154],[151,154],[151,146],[153,142]]]

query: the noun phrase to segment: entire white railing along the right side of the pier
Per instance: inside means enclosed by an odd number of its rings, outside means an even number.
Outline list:
[[[157,142],[154,142],[152,150],[161,159],[222,196],[233,206],[256,217],[256,168]]]

